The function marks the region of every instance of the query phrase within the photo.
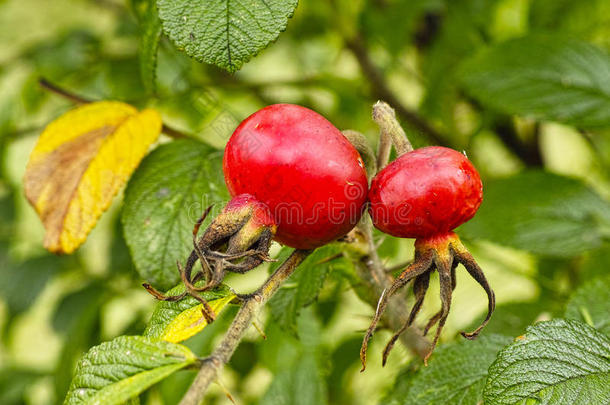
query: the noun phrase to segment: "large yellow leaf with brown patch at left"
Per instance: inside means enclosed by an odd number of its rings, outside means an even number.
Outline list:
[[[154,110],[101,101],[71,110],[45,128],[30,155],[24,187],[45,227],[48,250],[71,253],[87,239],[161,125]]]

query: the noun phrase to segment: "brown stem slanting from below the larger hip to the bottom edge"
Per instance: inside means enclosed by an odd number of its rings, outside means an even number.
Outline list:
[[[216,379],[224,365],[229,362],[246,330],[252,324],[252,320],[311,252],[311,250],[292,252],[267,281],[244,301],[220,344],[209,357],[203,360],[195,380],[184,394],[180,405],[199,405],[201,403],[208,386]]]

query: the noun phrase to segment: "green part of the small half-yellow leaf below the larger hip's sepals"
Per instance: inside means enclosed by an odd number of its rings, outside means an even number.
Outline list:
[[[198,282],[196,285],[203,285],[204,281]],[[184,292],[184,284],[178,284],[176,287],[170,289],[167,292],[167,295],[179,295]],[[201,293],[201,297],[207,300],[210,305],[224,304],[226,305],[231,299],[233,299],[233,294],[229,290],[227,286],[221,286],[212,291],[205,291]],[[228,301],[226,299],[231,297]],[[214,304],[215,301],[221,301],[217,304]],[[198,308],[198,313],[201,314],[201,308],[199,307],[200,303],[195,298],[191,296],[187,296],[180,301],[158,301],[155,305],[155,309],[153,311],[152,316],[150,317],[150,321],[148,321],[148,325],[146,325],[146,329],[144,330],[144,336],[148,336],[151,338],[163,339],[164,336],[168,334],[176,334],[177,327],[179,325],[174,324],[177,318],[181,316],[181,314],[185,313],[184,316],[188,314],[193,314],[193,308]],[[224,307],[222,305],[222,307]],[[222,308],[219,308],[220,311]],[[201,327],[203,329],[205,325]],[[190,336],[198,333],[201,329],[195,330],[190,329],[190,332],[193,332]],[[183,335],[183,337],[186,335]],[[190,336],[186,336],[184,339],[187,339]]]

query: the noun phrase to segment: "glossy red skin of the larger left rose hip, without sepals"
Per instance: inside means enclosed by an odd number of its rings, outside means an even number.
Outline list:
[[[292,104],[263,108],[227,143],[225,182],[232,196],[265,203],[275,239],[313,249],[349,232],[362,215],[368,183],[350,142],[318,113]]]

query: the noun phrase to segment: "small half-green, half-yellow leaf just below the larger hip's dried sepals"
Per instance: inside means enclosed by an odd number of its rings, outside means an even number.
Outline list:
[[[204,282],[200,281],[197,286]],[[184,292],[184,284],[178,284],[167,292],[167,295],[179,295]],[[218,315],[235,297],[226,286],[201,294]],[[180,301],[159,301],[148,321],[144,336],[181,342],[199,333],[207,325],[201,312],[201,304],[195,298],[187,296]]]

